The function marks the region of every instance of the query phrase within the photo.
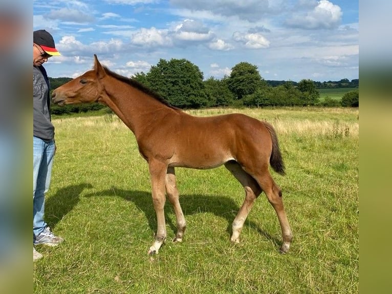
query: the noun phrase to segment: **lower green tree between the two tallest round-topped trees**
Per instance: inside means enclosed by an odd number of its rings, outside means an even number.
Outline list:
[[[204,81],[205,93],[207,95],[208,107],[228,106],[234,100],[234,95],[223,80],[210,77]]]

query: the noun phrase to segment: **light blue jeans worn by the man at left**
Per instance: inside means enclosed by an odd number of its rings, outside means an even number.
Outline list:
[[[38,236],[47,226],[43,220],[45,193],[52,175],[54,141],[43,141],[33,136],[33,232]]]

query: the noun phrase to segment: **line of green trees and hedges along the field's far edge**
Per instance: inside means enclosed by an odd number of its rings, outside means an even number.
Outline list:
[[[222,79],[204,79],[199,67],[186,59],[160,59],[147,73],[136,73],[130,78],[141,82],[157,92],[172,106],[181,109],[211,107],[279,107],[279,106],[321,106],[358,107],[359,80],[317,82],[311,79],[294,81],[267,81],[260,76],[257,66],[239,62],[231,69],[230,75]],[[68,82],[71,78],[50,78],[51,89]],[[353,88],[341,100],[326,97],[320,100],[317,89]],[[64,107],[53,105],[53,114],[86,112],[104,108],[101,104],[75,104]]]

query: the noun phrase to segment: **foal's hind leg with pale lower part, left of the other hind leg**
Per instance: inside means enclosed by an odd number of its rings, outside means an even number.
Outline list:
[[[244,223],[250,209],[253,206],[254,200],[262,193],[262,189],[255,179],[246,173],[241,165],[236,161],[228,161],[225,163],[226,169],[243,185],[245,189],[245,200],[233,221],[231,235],[231,242],[239,243],[239,235],[244,227]]]

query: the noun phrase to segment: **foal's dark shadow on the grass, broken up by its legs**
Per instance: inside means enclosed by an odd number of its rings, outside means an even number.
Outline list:
[[[151,199],[151,193],[144,191],[128,191],[122,190],[116,187],[112,187],[109,190],[100,191],[94,194],[87,194],[84,197],[97,197],[97,196],[117,196],[121,197],[127,201],[133,202],[142,211],[148,220],[149,227],[153,232],[157,231],[157,220],[156,214],[153,206],[153,200]],[[263,200],[263,199],[260,199]],[[239,210],[238,205],[229,197],[224,196],[208,196],[200,194],[192,195],[181,195],[180,196],[181,207],[186,219],[186,216],[194,215],[198,213],[212,213],[218,217],[222,217],[227,220],[226,232],[231,236],[232,229],[231,224]],[[272,209],[272,207],[271,207]],[[171,230],[176,233],[176,217],[168,217],[167,212],[174,214],[172,206],[168,200],[165,204],[165,220],[170,226]],[[277,218],[276,218],[277,221]],[[270,234],[266,233],[261,229],[255,222],[247,219],[244,224],[245,226],[254,227],[257,232],[265,237],[266,239],[274,242],[276,245],[281,245],[281,241],[272,237]],[[186,234],[186,233],[185,233]],[[229,238],[230,238],[229,236]]]

